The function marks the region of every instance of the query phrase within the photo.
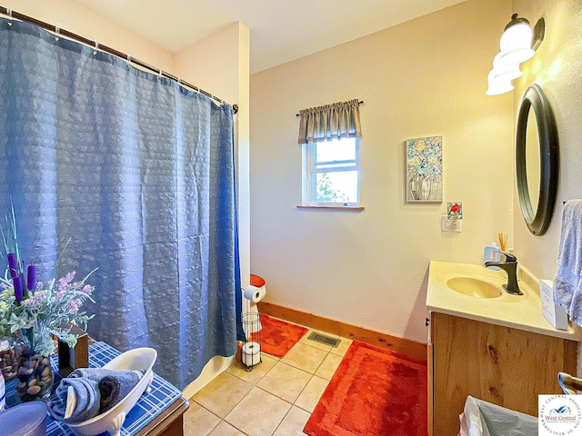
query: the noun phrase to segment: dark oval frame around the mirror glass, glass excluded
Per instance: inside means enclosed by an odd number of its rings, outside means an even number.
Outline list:
[[[534,109],[536,114],[539,139],[540,181],[536,213],[532,209],[527,188],[526,136],[530,107]],[[517,117],[516,170],[521,214],[526,220],[529,231],[536,236],[546,233],[554,212],[557,196],[558,153],[554,115],[542,88],[538,84],[532,84],[524,94]]]

